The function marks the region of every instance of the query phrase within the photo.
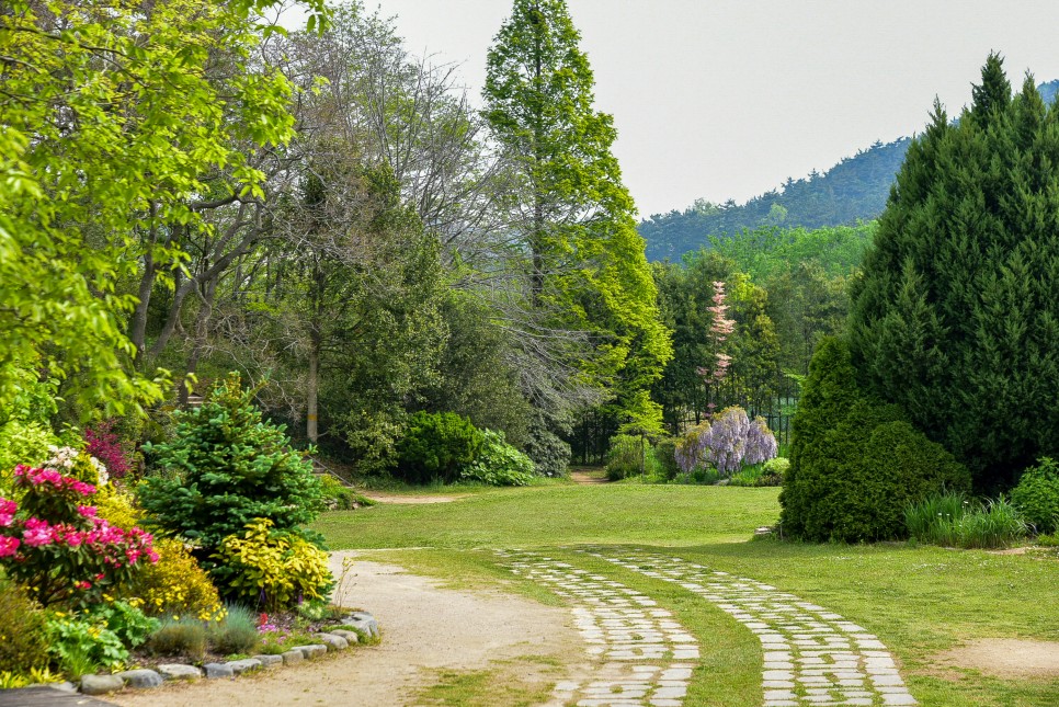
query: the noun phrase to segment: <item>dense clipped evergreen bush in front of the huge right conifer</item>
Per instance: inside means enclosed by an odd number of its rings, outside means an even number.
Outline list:
[[[897,538],[909,503],[968,488],[966,469],[898,408],[861,397],[849,349],[825,339],[794,420],[783,532],[847,543]]]

